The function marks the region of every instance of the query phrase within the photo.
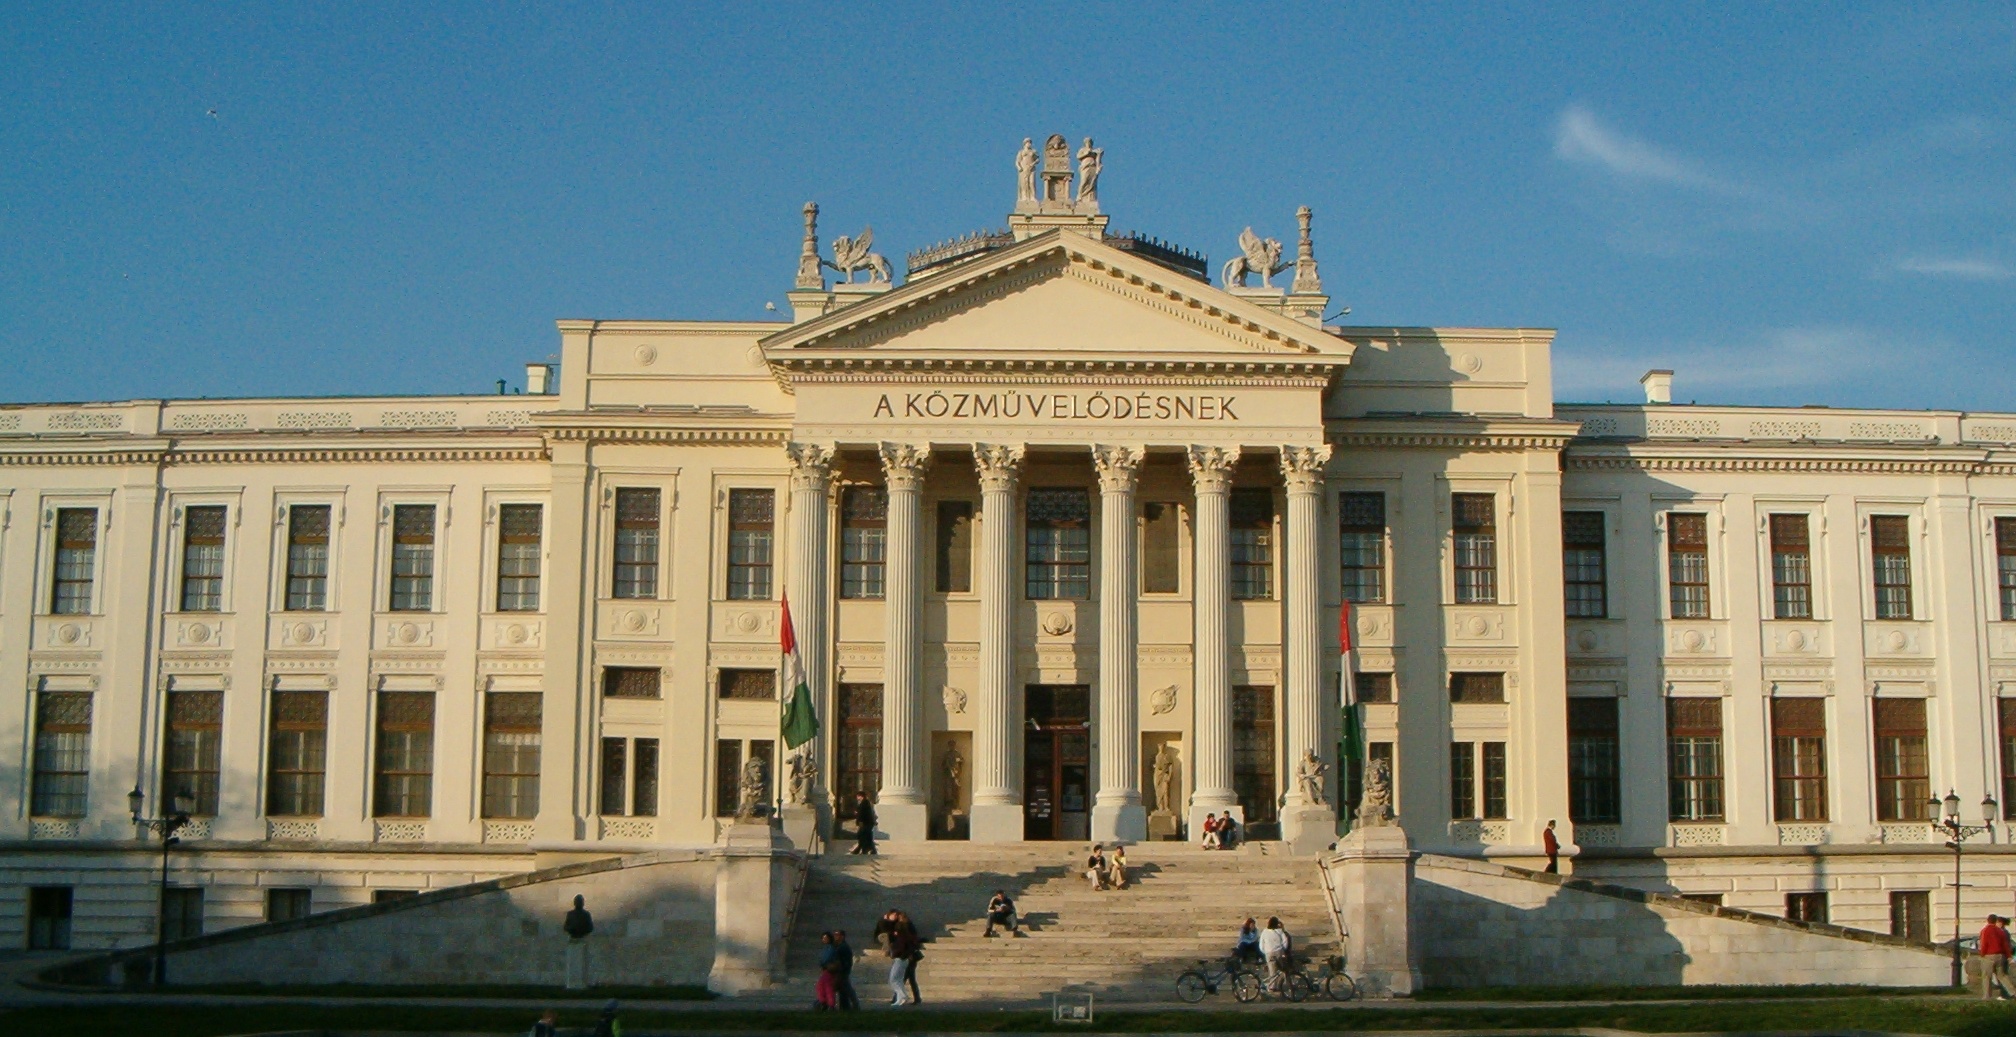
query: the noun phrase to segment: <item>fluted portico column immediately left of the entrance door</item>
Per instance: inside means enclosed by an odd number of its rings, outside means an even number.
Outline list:
[[[980,696],[974,714],[976,843],[1022,841],[1022,716],[1014,694],[1014,531],[1022,446],[974,444],[980,472]]]

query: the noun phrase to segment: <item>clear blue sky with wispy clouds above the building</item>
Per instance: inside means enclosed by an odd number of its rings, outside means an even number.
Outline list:
[[[982,14],[974,14],[982,10]],[[24,4],[0,399],[488,391],[560,317],[762,319],[798,206],[1000,226],[1022,137],[1560,399],[2016,410],[2016,4]]]

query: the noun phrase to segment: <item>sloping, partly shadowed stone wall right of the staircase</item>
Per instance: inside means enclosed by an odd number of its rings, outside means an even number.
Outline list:
[[[1897,936],[1433,853],[1411,898],[1427,987],[1939,987],[1951,968]]]

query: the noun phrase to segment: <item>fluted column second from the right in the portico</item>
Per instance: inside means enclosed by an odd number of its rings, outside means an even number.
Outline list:
[[[1189,793],[1189,831],[1204,831],[1204,815],[1232,811],[1246,819],[1232,793],[1232,472],[1236,446],[1191,446],[1189,478],[1198,488],[1195,587],[1191,611],[1191,720],[1189,753],[1195,787]]]

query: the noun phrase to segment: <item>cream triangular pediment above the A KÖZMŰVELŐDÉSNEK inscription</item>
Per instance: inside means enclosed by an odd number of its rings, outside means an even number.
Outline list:
[[[1343,363],[1351,345],[1081,234],[1050,232],[804,321],[762,343],[812,355]]]

